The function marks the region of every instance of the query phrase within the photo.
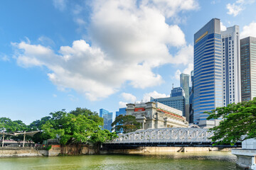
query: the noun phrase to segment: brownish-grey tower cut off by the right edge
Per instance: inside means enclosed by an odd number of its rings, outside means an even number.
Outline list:
[[[240,40],[242,101],[256,97],[256,38]]]

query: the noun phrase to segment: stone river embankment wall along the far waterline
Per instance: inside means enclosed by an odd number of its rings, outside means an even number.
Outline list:
[[[231,148],[218,147],[137,147],[130,149],[107,149],[92,146],[50,145],[48,148],[36,147],[0,147],[1,157],[55,157],[59,155],[92,155],[92,154],[161,154],[175,152],[230,152]]]

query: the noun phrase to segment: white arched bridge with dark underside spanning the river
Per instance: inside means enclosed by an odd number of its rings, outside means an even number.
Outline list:
[[[159,128],[137,130],[119,134],[117,139],[106,142],[103,147],[213,147],[209,137],[213,132],[201,128]],[[214,147],[240,147],[240,144]]]

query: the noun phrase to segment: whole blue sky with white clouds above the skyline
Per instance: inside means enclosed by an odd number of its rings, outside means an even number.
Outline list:
[[[211,18],[256,36],[256,2],[0,2],[0,117],[31,123],[76,107],[115,112],[169,96],[193,69],[193,34]]]

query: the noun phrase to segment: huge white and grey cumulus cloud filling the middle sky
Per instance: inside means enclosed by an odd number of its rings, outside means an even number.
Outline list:
[[[65,8],[65,1],[53,2]],[[114,94],[123,84],[141,89],[157,86],[164,80],[152,69],[167,63],[187,66],[193,59],[193,46],[186,44],[181,28],[167,24],[166,18],[196,8],[195,0],[96,0],[86,28],[90,44],[75,40],[55,52],[29,41],[14,43],[17,63],[47,67],[58,89],[75,89],[92,101]],[[85,25],[83,18],[74,21]],[[178,51],[176,55],[170,54],[170,47]]]

